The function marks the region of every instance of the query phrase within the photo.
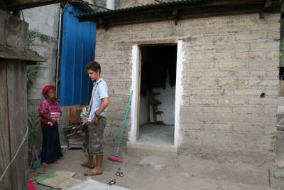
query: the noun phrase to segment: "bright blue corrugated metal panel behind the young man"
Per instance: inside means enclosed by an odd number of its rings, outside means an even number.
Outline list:
[[[78,14],[71,4],[63,14],[60,105],[86,105],[92,90],[85,66],[94,60],[96,23],[79,23]]]

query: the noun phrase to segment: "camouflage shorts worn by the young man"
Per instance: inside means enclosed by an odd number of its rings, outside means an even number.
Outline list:
[[[106,117],[99,117],[99,124],[89,124],[89,146],[88,153],[92,155],[103,154],[102,137],[104,137],[104,127],[106,127]]]

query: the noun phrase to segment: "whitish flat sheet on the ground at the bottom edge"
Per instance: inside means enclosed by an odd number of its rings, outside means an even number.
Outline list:
[[[103,184],[99,181],[94,181],[92,179],[88,179],[87,181],[82,182],[77,186],[72,187],[70,190],[130,190],[125,189],[121,186],[108,186],[107,184]]]

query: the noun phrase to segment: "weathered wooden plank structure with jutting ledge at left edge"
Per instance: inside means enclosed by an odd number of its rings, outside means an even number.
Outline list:
[[[27,63],[46,61],[23,49],[27,26],[0,10],[0,174],[16,154],[28,127]],[[0,182],[0,189],[28,189],[28,139]]]

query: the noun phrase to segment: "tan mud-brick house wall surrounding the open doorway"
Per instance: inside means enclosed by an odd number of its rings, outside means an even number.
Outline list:
[[[217,16],[98,29],[96,59],[109,85],[106,135],[118,137],[129,95],[131,45],[182,41],[179,154],[273,159],[280,14]],[[263,94],[263,95],[261,95]],[[126,126],[126,137],[131,121]],[[127,139],[126,139],[127,140]],[[250,161],[249,161],[250,162]]]

